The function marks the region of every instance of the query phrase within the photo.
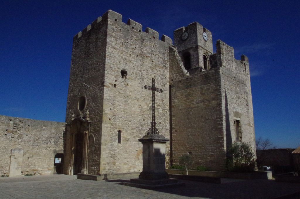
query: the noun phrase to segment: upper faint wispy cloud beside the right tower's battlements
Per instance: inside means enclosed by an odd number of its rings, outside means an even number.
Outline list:
[[[250,45],[244,45],[241,47],[235,47],[235,54],[249,54],[249,53],[258,53],[272,48],[272,44],[269,43],[254,43]]]

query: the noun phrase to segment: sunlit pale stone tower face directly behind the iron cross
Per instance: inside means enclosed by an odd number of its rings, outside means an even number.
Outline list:
[[[101,173],[142,171],[142,144],[138,139],[151,127],[152,91],[155,86],[156,127],[169,138],[169,46],[172,40],[140,23],[122,22],[122,15],[108,11],[107,53],[103,105]],[[122,71],[127,72],[122,78]],[[121,143],[118,143],[121,131]],[[169,144],[167,145],[167,151]]]

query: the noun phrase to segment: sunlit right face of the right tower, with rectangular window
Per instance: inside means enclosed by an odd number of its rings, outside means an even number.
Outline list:
[[[233,48],[218,40],[217,61],[221,74],[225,148],[232,142],[247,142],[255,153],[255,133],[248,58],[234,58]],[[239,121],[239,139],[235,120]]]

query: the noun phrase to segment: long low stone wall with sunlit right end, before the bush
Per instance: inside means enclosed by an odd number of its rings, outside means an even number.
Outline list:
[[[185,170],[166,169],[169,174],[185,174]],[[189,176],[203,176],[214,178],[234,178],[234,179],[272,179],[271,171],[255,171],[253,173],[233,173],[218,171],[195,171],[189,170]]]

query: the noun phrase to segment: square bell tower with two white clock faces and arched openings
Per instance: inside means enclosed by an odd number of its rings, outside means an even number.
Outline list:
[[[210,69],[212,54],[211,32],[198,22],[174,31],[174,45],[177,47],[184,68],[193,74]]]

